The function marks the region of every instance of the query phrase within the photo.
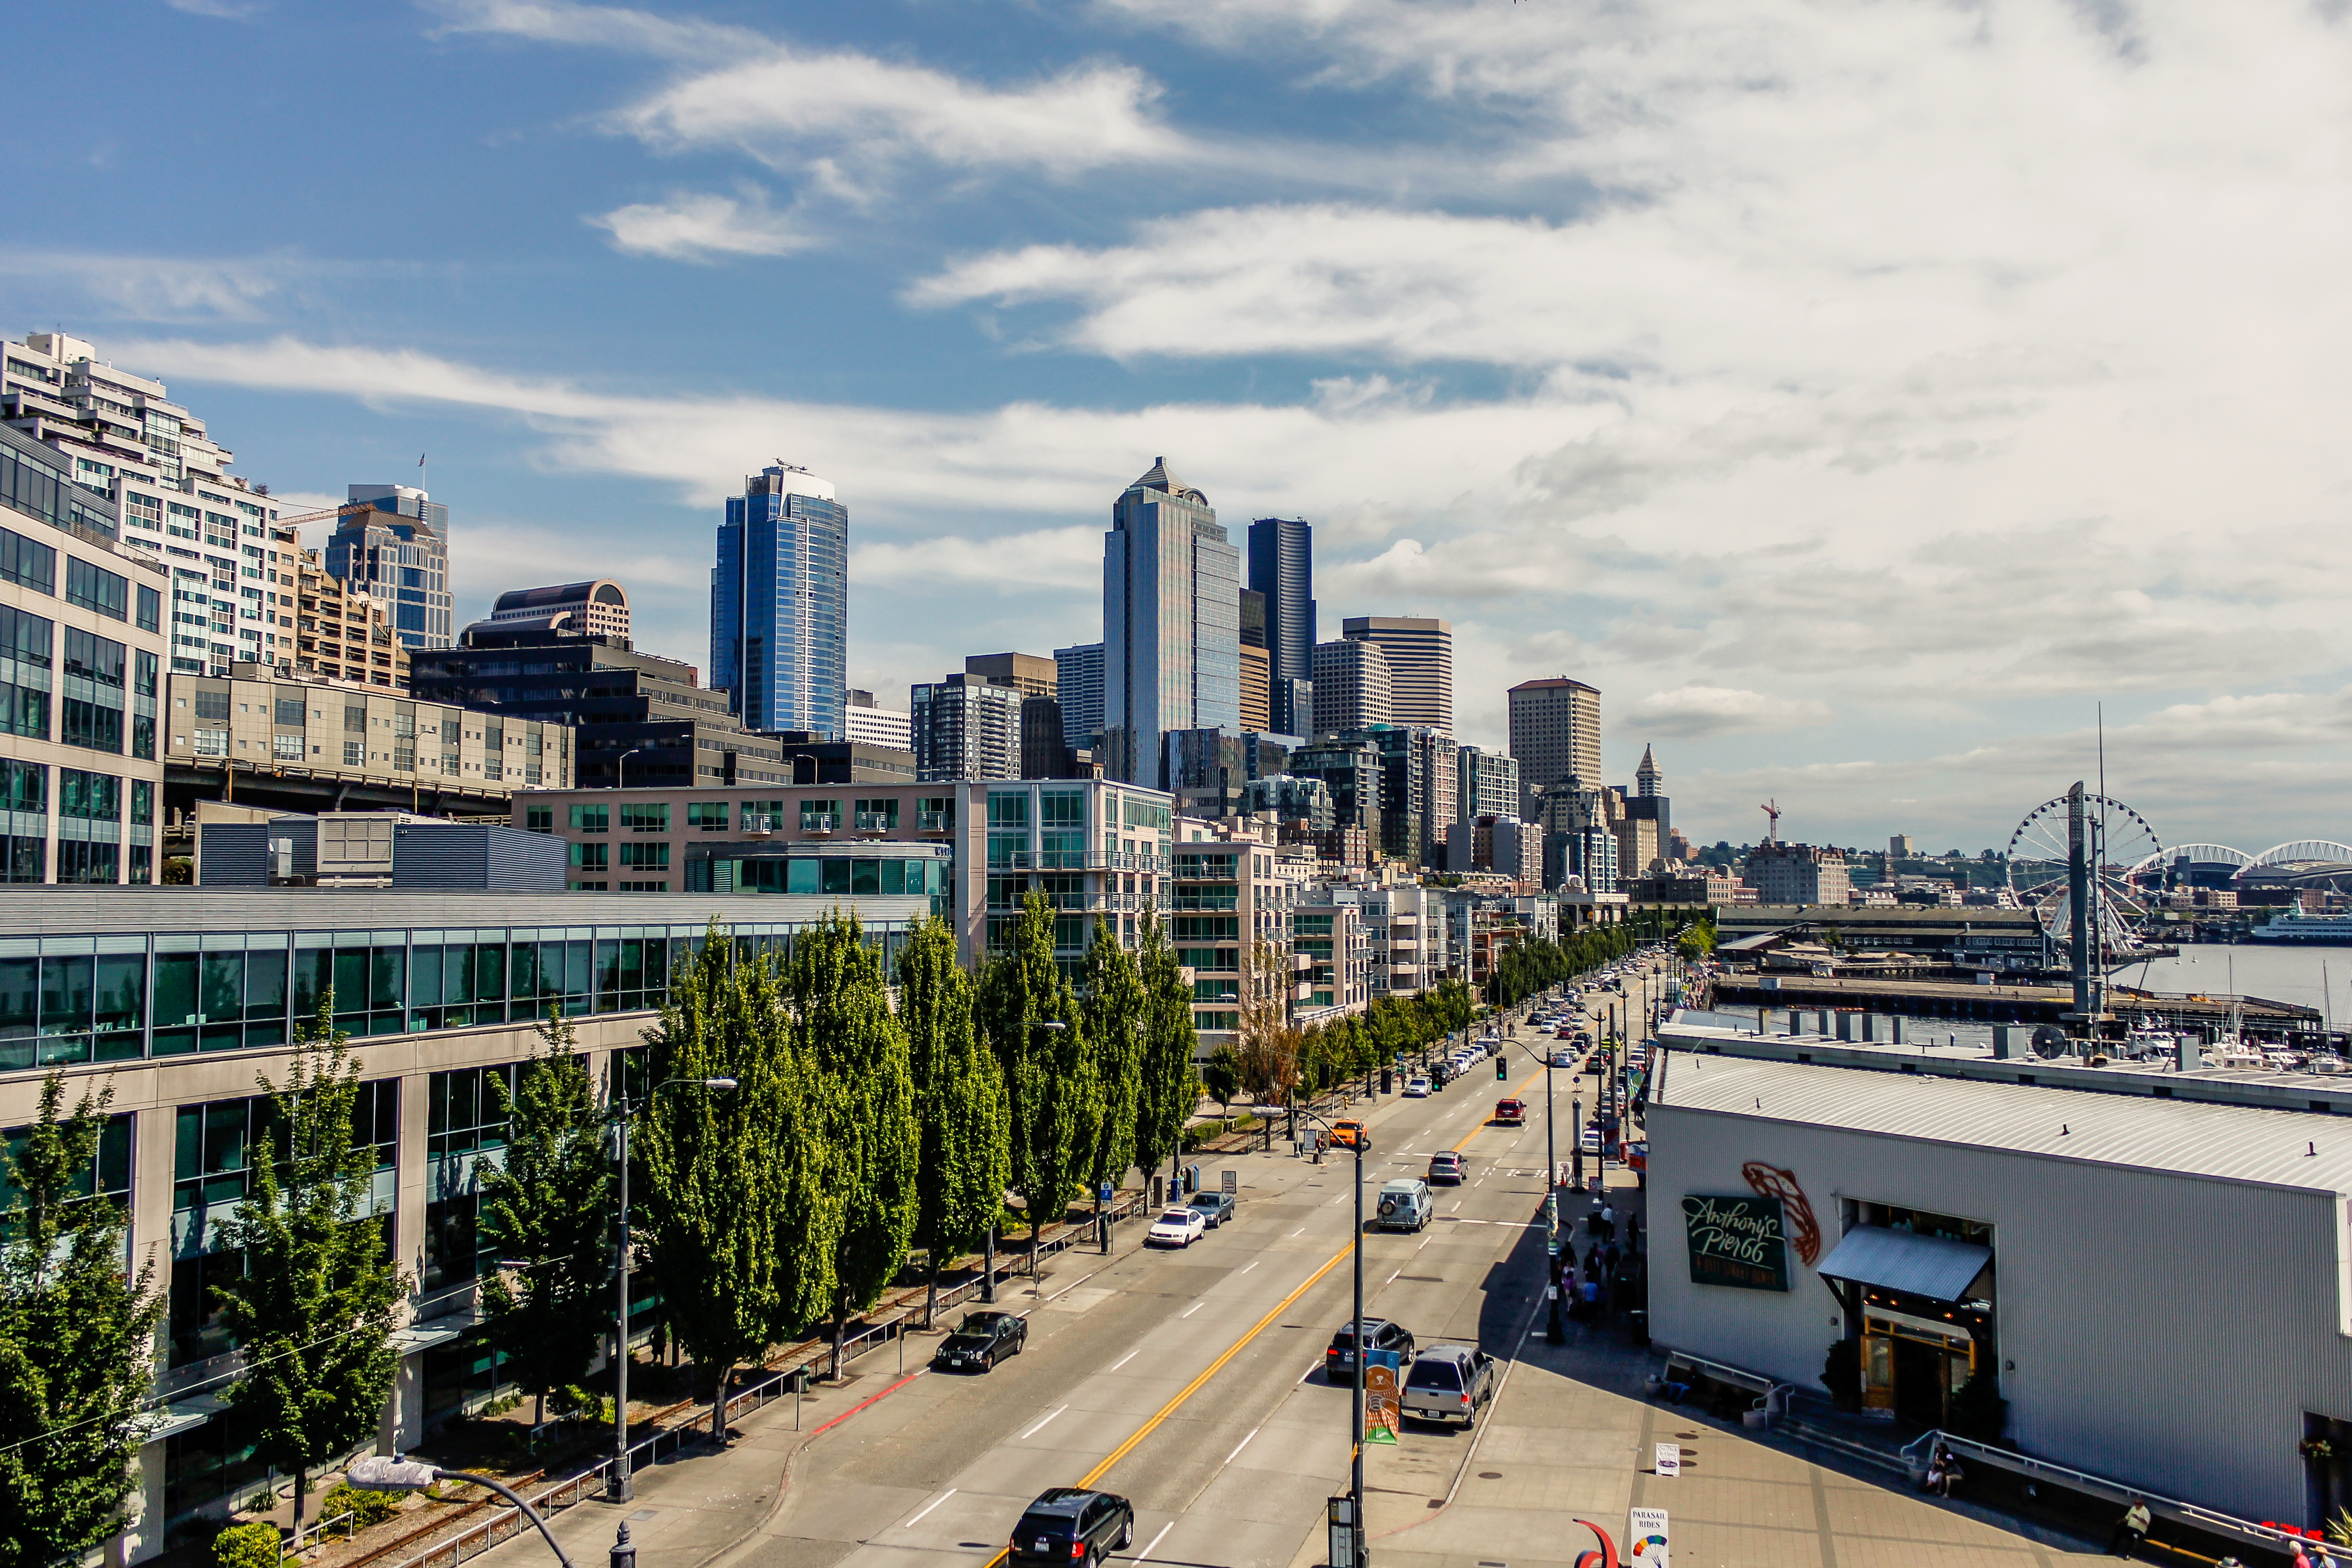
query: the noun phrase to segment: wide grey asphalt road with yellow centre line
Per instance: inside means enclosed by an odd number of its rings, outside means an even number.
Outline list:
[[[1364,1239],[1367,1314],[1421,1345],[1508,1356],[1538,1307],[1545,1074],[1524,1051],[1510,1063],[1508,1081],[1475,1067],[1428,1100],[1357,1112],[1371,1124],[1367,1213],[1381,1182],[1421,1175],[1432,1152],[1468,1159],[1463,1185],[1437,1187],[1423,1234]],[[1562,1161],[1573,1081],[1555,1072]],[[1529,1100],[1526,1126],[1489,1124],[1501,1093]],[[1030,1316],[1025,1354],[988,1375],[922,1375],[809,1443],[783,1507],[729,1568],[988,1563],[1049,1486],[1134,1500],[1127,1559],[1289,1568],[1345,1488],[1350,1389],[1324,1380],[1322,1352],[1350,1314],[1355,1157],[1317,1166],[1277,1147],[1202,1164],[1207,1185],[1240,1173],[1240,1206],[1195,1246],[1063,1253],[1035,1291],[1007,1293],[1002,1305]],[[870,1373],[828,1403],[891,1380]],[[1461,1429],[1409,1427],[1397,1448],[1367,1450],[1367,1490],[1435,1507],[1465,1450]]]

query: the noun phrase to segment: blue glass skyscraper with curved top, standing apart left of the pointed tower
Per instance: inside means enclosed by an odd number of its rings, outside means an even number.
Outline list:
[[[842,738],[849,689],[849,510],[776,463],[727,498],[710,571],[710,684],[743,729]]]

